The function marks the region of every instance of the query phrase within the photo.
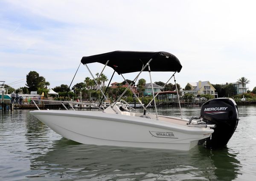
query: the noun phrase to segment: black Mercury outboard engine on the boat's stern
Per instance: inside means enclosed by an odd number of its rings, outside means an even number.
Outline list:
[[[239,121],[236,102],[230,98],[217,98],[202,105],[201,118],[207,124],[215,124],[211,137],[206,139],[206,147],[219,148],[227,145]]]

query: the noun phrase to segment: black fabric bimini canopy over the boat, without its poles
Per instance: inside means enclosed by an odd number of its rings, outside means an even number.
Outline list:
[[[132,52],[114,51],[89,57],[82,57],[81,63],[102,63],[108,65],[120,75],[130,72],[140,72],[148,61],[152,72],[180,72],[182,66],[180,60],[168,52]],[[148,67],[144,69],[148,71]]]

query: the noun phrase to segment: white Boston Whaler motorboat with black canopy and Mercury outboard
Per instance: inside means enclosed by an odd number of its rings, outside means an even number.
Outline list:
[[[176,85],[175,74],[180,72],[182,65],[177,57],[171,53],[114,51],[82,57],[81,63],[86,66],[101,91],[102,98],[105,98],[110,106],[104,108],[99,105],[97,107],[99,111],[76,111],[72,103],[66,102],[72,108],[70,110],[64,106],[65,101],[61,101],[65,110],[40,110],[38,108],[38,110],[30,112],[50,129],[67,139],[81,144],[189,150],[198,143],[203,143],[208,148],[224,147],[236,130],[239,121],[238,109],[232,99],[210,100],[202,106],[199,117],[190,119],[183,118],[181,108],[180,118],[159,115],[155,101],[159,92],[154,94],[154,89],[152,94],[154,96],[148,105],[141,103],[131,89],[134,97],[143,106],[140,111],[132,108],[122,99],[125,92],[135,84],[140,74],[145,71],[148,72],[151,87],[153,87],[151,72],[171,72],[170,78],[163,88],[172,78]],[[102,72],[106,66],[109,66],[113,69],[113,75],[117,73],[124,80],[126,73],[138,72],[138,74],[128,84],[122,95],[114,103],[110,103],[90,71],[88,67],[90,63],[102,63],[104,65]],[[177,98],[179,101],[179,96]],[[32,101],[35,103],[34,100]],[[152,113],[147,110],[151,103],[155,111]]]

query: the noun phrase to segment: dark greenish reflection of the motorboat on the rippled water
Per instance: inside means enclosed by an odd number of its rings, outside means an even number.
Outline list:
[[[31,160],[31,170],[38,172],[27,177],[230,181],[237,178],[241,167],[230,152],[201,145],[189,151],[96,146],[61,138],[45,155]]]

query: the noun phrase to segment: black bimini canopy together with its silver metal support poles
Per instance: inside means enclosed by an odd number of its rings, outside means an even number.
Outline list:
[[[125,92],[128,89],[131,89],[131,86],[133,84],[135,84],[135,82],[139,78],[139,75],[141,74],[141,72],[148,71],[150,80],[151,80],[151,73],[150,73],[151,71],[152,72],[175,72],[176,73],[176,72],[180,72],[180,70],[182,68],[180,61],[177,59],[177,57],[175,57],[174,55],[172,55],[168,52],[114,51],[114,52],[108,52],[108,53],[99,54],[99,55],[92,55],[89,57],[82,57],[82,59],[81,59],[81,63],[83,63],[87,67],[89,72],[90,72],[90,69],[88,68],[88,66],[86,64],[87,63],[95,63],[95,62],[102,63],[105,66],[109,66],[109,67],[113,68],[114,72],[117,72],[119,75],[122,75],[124,73],[139,72],[139,74],[135,77],[135,79],[129,84],[127,89],[122,93],[122,95],[119,96],[119,99],[116,100],[116,102],[118,102],[122,98],[122,96],[125,94]],[[105,69],[105,66],[104,66],[103,70]],[[103,72],[103,70],[102,70],[102,72]],[[101,72],[101,74],[102,74],[102,72]],[[172,77],[174,77],[175,73],[172,75]],[[91,72],[90,72],[90,74],[93,77],[93,74]],[[123,77],[123,75],[122,75],[122,77]],[[98,86],[98,89],[102,92],[102,89],[100,88],[99,84],[97,83],[97,80],[94,77],[93,77],[93,80],[95,81],[96,85]],[[124,78],[124,80],[125,80],[125,78]],[[167,81],[167,83],[169,82],[169,80]],[[163,86],[163,88],[166,86],[166,84]],[[175,81],[175,84],[176,84],[176,81]],[[152,80],[151,80],[151,86],[152,86]],[[161,90],[163,90],[163,88]],[[134,91],[132,91],[132,92],[134,93]],[[106,101],[108,101],[108,99],[106,98],[106,96],[103,92],[102,92],[102,95],[105,97]],[[137,97],[137,95],[135,93],[134,93],[134,95],[138,99],[138,101],[141,103],[141,101]],[[151,100],[151,102],[154,100],[155,108],[156,108],[155,98],[157,95],[153,96],[153,99]],[[110,103],[110,105],[111,105],[111,103]],[[112,109],[113,109],[113,105],[111,105]],[[145,114],[146,107],[143,106],[144,114]],[[156,114],[157,114],[157,109],[156,109]],[[158,117],[157,117],[157,119],[158,119]]]

